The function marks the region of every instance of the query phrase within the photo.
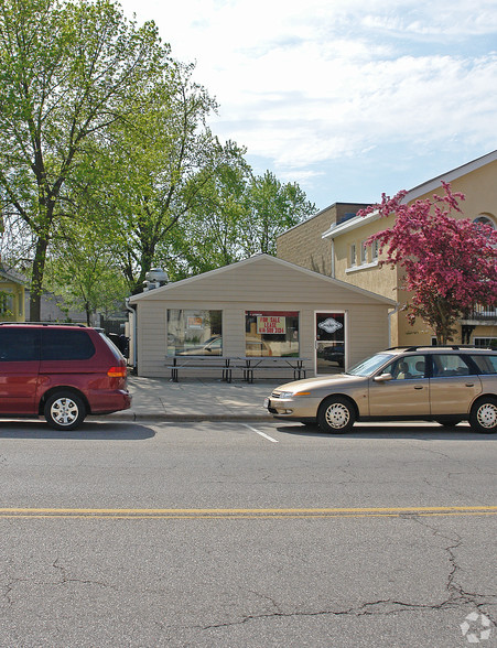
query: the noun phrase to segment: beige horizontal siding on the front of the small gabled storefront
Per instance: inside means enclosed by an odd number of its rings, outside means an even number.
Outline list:
[[[168,309],[222,310],[225,356],[245,356],[246,311],[299,311],[300,355],[310,358],[313,366],[315,312],[347,313],[348,360],[356,363],[388,345],[387,312],[392,307],[381,298],[271,257],[156,289],[136,300],[136,304],[141,376],[170,374],[164,366]],[[288,378],[288,372],[282,377]]]

